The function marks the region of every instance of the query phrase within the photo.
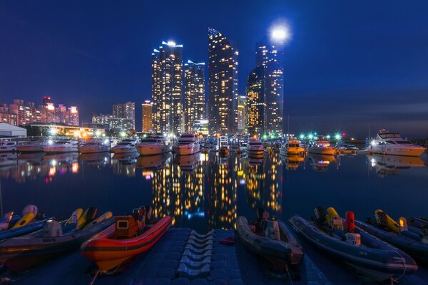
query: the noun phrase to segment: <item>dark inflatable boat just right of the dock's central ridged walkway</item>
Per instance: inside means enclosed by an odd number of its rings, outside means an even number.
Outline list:
[[[244,246],[270,261],[273,266],[287,270],[287,266],[302,261],[302,247],[292,229],[284,222],[269,217],[264,209],[258,209],[258,221],[255,224],[250,224],[246,217],[240,216],[235,226]]]

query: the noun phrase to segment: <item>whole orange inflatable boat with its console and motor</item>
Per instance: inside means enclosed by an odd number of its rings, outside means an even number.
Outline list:
[[[133,215],[116,217],[115,224],[82,244],[81,254],[96,263],[101,272],[115,269],[153,247],[172,222],[170,216],[165,216],[155,224],[146,225],[146,219],[144,208],[134,210]]]

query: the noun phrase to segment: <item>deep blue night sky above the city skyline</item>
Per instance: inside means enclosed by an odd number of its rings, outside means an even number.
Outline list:
[[[183,44],[207,61],[208,26],[240,51],[239,89],[255,42],[287,23],[285,126],[365,137],[369,124],[428,131],[428,1],[0,1],[0,102],[77,105],[81,120],[151,99],[151,52]],[[208,71],[205,71],[208,74]],[[285,127],[287,128],[287,127]]]

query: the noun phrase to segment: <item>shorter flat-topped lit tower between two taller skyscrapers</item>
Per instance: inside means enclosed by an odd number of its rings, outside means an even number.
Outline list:
[[[205,63],[184,64],[184,130],[193,132],[195,120],[205,119]]]

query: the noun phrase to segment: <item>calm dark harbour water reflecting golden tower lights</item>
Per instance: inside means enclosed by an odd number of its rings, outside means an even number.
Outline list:
[[[35,204],[48,216],[68,217],[76,207],[126,214],[153,205],[175,227],[199,232],[233,227],[257,207],[288,219],[309,218],[333,206],[356,217],[383,209],[392,217],[428,216],[427,154],[419,157],[282,157],[253,160],[230,152],[186,157],[160,155],[0,155],[1,214]]]

